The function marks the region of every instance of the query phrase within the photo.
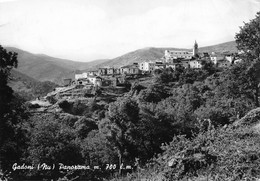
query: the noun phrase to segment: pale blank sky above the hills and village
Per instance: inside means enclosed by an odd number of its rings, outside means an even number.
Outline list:
[[[0,0],[0,44],[75,61],[234,40],[260,0]]]

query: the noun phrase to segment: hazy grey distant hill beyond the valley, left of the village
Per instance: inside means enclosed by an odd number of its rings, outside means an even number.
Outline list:
[[[6,47],[8,51],[18,53],[17,71],[33,77],[37,81],[52,81],[62,84],[64,78],[73,78],[76,70],[89,69],[106,60],[75,62],[42,54],[32,54],[18,48]]]

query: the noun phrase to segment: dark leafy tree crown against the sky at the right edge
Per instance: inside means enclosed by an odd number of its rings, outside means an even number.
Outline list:
[[[257,12],[255,19],[240,27],[235,39],[237,48],[244,52],[248,60],[260,58],[260,12]]]

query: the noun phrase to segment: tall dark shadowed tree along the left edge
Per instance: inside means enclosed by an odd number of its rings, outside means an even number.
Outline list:
[[[17,162],[24,147],[21,122],[26,119],[23,100],[15,97],[7,83],[10,71],[18,64],[17,53],[0,46],[0,170],[10,169]]]

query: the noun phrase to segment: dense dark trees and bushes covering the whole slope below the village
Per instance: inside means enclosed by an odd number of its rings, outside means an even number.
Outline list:
[[[17,55],[0,47],[0,170],[18,180],[260,178],[258,129],[233,124],[259,106],[259,22],[258,13],[236,35],[238,48],[247,52],[239,64],[218,69],[205,61],[202,69],[156,71],[149,86],[133,83],[108,104],[59,100],[61,113],[32,113],[14,96],[7,82]],[[257,31],[253,39],[249,31]],[[40,167],[14,171],[14,163]],[[43,165],[61,163],[116,167]],[[124,177],[121,164],[132,165],[133,173]]]

